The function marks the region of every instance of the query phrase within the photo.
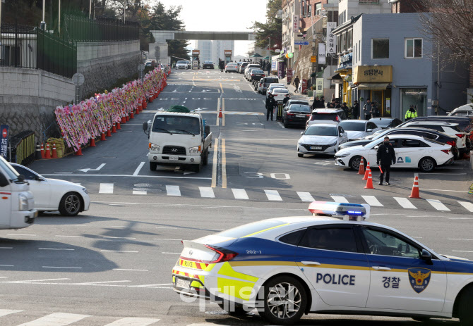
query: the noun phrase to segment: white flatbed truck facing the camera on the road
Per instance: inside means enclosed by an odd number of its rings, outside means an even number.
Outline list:
[[[163,111],[148,124],[143,123],[143,130],[149,139],[150,170],[157,165],[184,165],[200,172],[207,165],[212,132],[202,115]]]

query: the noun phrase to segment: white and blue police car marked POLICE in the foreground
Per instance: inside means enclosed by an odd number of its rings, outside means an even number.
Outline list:
[[[278,325],[304,313],[460,318],[472,325],[473,261],[366,222],[366,204],[314,201],[309,211],[313,217],[261,220],[183,241],[174,291],[217,301],[230,314],[257,308]]]

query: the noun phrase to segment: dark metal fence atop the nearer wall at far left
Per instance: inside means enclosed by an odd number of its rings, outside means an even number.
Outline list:
[[[37,27],[2,23],[0,66],[41,69],[71,78],[77,70],[73,42]]]

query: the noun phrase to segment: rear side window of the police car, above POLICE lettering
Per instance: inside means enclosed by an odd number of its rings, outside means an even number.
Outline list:
[[[313,249],[358,252],[357,241],[351,227],[309,229],[299,246]]]

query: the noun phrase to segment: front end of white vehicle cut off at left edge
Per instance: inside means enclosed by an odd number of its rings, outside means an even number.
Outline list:
[[[29,227],[36,217],[30,184],[0,156],[0,230]]]

